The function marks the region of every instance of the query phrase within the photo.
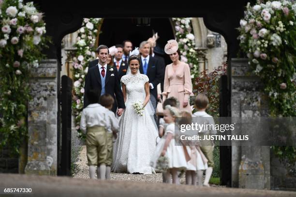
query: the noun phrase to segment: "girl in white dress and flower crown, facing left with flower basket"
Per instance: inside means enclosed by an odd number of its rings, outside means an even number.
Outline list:
[[[161,165],[167,167],[166,180],[170,180],[172,175],[173,183],[178,184],[178,171],[186,170],[187,161],[182,146],[175,146],[175,121],[179,116],[178,109],[170,105],[165,106],[163,111],[163,120],[167,124],[165,127],[165,133],[163,138],[157,144],[155,154],[152,157],[150,165],[154,168]],[[176,127],[178,127],[176,125]],[[166,158],[166,159],[163,159]],[[159,164],[159,158],[162,158],[161,162],[167,163]]]

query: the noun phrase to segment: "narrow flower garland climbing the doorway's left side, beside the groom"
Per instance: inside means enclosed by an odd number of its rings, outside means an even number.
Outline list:
[[[83,138],[83,133],[80,130],[80,119],[83,110],[85,76],[89,70],[89,61],[96,58],[95,42],[98,34],[96,27],[100,25],[101,21],[101,18],[84,18],[82,27],[77,31],[78,36],[74,44],[76,54],[73,58],[72,69],[74,81],[72,110],[79,138]]]

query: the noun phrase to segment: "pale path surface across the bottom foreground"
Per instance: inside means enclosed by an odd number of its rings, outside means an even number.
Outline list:
[[[32,188],[36,197],[295,197],[296,192],[198,187],[131,181],[100,181],[70,177],[0,174],[5,187]],[[9,197],[14,195],[9,195]],[[15,195],[19,196],[19,195]]]

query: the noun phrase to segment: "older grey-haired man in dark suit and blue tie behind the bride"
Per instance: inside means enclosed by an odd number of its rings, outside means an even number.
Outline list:
[[[157,58],[149,55],[150,43],[144,41],[140,43],[141,65],[140,72],[146,74],[149,78],[150,100],[154,111],[157,106],[157,85],[164,80],[164,67],[159,63]],[[156,115],[154,115],[156,119]]]

